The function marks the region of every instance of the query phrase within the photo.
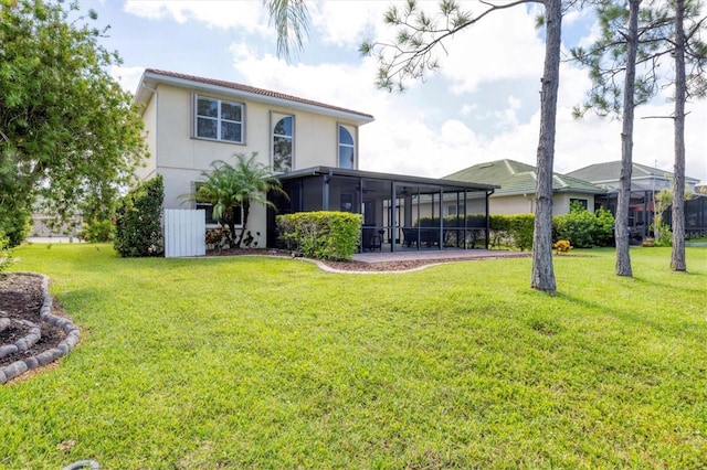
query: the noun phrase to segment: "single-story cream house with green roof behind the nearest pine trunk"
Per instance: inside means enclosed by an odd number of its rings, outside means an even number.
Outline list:
[[[508,159],[478,163],[444,177],[500,186],[489,199],[492,214],[535,214],[537,178],[535,167]],[[605,192],[605,188],[588,181],[553,173],[552,214],[567,214],[572,202],[593,211],[598,206],[597,196]],[[454,214],[456,210],[455,202],[445,202],[445,214]]]

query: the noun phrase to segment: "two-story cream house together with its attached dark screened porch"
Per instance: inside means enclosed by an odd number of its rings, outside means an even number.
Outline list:
[[[439,202],[464,201],[474,194],[474,211],[487,221],[493,184],[476,184],[358,170],[359,128],[371,115],[291,95],[231,82],[148,68],[136,92],[143,106],[150,157],[138,170],[143,180],[161,174],[165,209],[205,209],[184,202],[202,172],[214,160],[229,161],[234,153],[257,152],[258,161],[278,174],[288,197],[276,197],[278,213],[350,211],[363,215],[362,248],[397,250],[405,241],[403,229],[415,225],[424,197]],[[395,201],[394,204],[391,201]],[[395,207],[392,211],[391,207]],[[263,206],[251,210],[249,228],[257,246],[276,242],[275,213]],[[434,209],[430,216],[434,216]],[[443,246],[443,227],[429,227],[425,243]],[[466,223],[455,235],[466,247]],[[487,226],[487,224],[483,224]],[[478,227],[475,227],[478,229]],[[374,241],[366,246],[366,241]],[[409,233],[410,235],[410,233]],[[420,234],[415,234],[420,237]],[[430,242],[432,239],[432,242]],[[383,245],[388,245],[383,248]]]

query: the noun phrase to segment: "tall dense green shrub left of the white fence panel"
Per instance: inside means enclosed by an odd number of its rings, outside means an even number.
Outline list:
[[[162,177],[148,180],[120,197],[115,213],[113,246],[123,257],[159,256],[163,252]]]

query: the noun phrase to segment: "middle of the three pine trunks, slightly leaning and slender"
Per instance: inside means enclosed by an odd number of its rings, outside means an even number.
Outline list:
[[[616,276],[633,276],[629,245],[629,204],[631,203],[631,171],[633,167],[633,119],[639,49],[639,9],[641,0],[629,1],[629,36],[626,38],[626,75],[623,92],[623,124],[621,129],[621,175],[614,233],[616,241]]]

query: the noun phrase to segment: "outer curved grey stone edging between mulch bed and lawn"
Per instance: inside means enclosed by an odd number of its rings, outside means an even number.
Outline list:
[[[66,338],[61,341],[56,346],[42,351],[38,355],[27,357],[21,361],[15,361],[10,365],[0,368],[0,385],[24,374],[27,371],[50,364],[60,357],[68,354],[81,338],[81,331],[71,320],[56,317],[52,313],[53,300],[49,292],[49,277],[36,273],[11,273],[22,276],[34,276],[42,280],[42,307],[40,308],[40,319],[61,328],[66,333]]]

